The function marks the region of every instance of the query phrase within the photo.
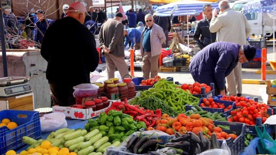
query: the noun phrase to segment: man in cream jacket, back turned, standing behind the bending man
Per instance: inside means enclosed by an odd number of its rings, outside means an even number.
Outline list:
[[[250,25],[243,13],[230,9],[226,0],[219,2],[219,10],[213,11],[213,17],[210,22],[210,32],[217,32],[217,41],[233,42],[243,46],[246,44],[246,38],[251,32]],[[241,95],[241,63],[226,77],[227,91],[229,95]],[[236,89],[237,87],[237,89]]]

